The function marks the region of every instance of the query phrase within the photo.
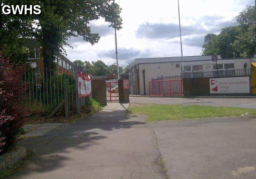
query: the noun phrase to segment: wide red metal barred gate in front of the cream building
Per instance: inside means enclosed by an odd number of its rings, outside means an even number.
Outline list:
[[[150,96],[182,96],[182,80],[149,81]]]

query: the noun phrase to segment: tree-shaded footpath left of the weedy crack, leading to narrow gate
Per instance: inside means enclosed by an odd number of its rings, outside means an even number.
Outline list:
[[[35,151],[26,170],[12,178],[163,178],[153,128],[145,118],[126,116],[128,104],[103,111],[20,145]]]

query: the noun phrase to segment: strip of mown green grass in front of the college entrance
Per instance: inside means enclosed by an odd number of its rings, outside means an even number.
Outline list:
[[[145,114],[148,121],[153,121],[240,116],[245,113],[256,115],[256,109],[181,104],[131,104],[128,113]]]

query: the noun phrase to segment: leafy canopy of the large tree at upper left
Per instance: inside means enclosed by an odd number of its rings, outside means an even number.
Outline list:
[[[48,67],[54,66],[58,53],[66,53],[63,46],[70,46],[67,40],[72,36],[80,35],[92,45],[98,42],[99,34],[91,33],[92,20],[103,18],[109,22],[109,27],[122,28],[122,9],[113,0],[2,0],[1,8],[3,5],[30,4],[40,5],[41,15],[0,14],[0,35],[4,37],[0,46],[9,46],[19,37],[35,37],[43,47],[44,63]]]

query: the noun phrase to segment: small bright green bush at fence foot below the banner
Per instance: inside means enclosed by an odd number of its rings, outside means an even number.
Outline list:
[[[85,98],[85,105],[80,108],[82,114],[86,116],[91,116],[92,114],[98,112],[102,109],[100,102],[91,97]]]

